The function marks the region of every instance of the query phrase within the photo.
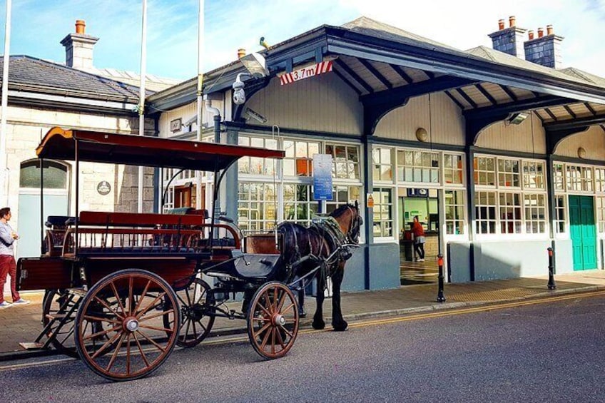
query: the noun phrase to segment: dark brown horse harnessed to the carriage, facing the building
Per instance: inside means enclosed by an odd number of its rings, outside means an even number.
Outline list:
[[[278,225],[278,232],[283,237],[281,255],[285,267],[281,280],[291,283],[298,277],[308,283],[317,278],[317,310],[312,322],[315,329],[325,327],[322,305],[327,277],[332,279],[332,328],[337,331],[347,329],[340,307],[340,285],[345,263],[352,255],[352,246],[347,245],[359,243],[362,224],[356,201],[355,205],[341,205],[327,220],[312,223],[308,228],[289,222]],[[299,300],[299,303],[303,301]]]

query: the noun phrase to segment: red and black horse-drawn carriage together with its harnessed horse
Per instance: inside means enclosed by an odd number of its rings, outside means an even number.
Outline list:
[[[335,287],[332,326],[347,327],[340,282],[362,224],[357,204],[338,208],[311,228],[284,223],[275,235],[245,242],[230,220],[200,210],[79,210],[82,161],[212,171],[215,203],[221,179],[238,158],[283,158],[283,151],[53,128],[36,153],[75,161],[76,215],[49,217],[43,254],[19,259],[19,289],[46,290],[44,328],[23,347],[52,346],[81,357],[107,379],[137,379],[156,370],[175,345],[197,345],[216,317],[227,317],[247,321],[258,354],[283,357],[298,335],[293,290],[314,277],[322,290],[327,276]],[[243,295],[241,312],[224,305],[236,294]],[[322,301],[323,292],[317,292],[315,328],[325,326]]]

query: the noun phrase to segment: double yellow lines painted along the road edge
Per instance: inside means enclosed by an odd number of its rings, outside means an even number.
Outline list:
[[[422,313],[422,314],[417,314],[417,315],[408,315],[405,317],[390,317],[390,318],[385,318],[385,319],[365,320],[363,322],[350,323],[349,329],[355,329],[357,327],[375,326],[375,325],[387,325],[390,323],[397,323],[397,322],[410,322],[412,320],[430,319],[430,318],[434,318],[434,317],[444,317],[444,316],[450,316],[450,315],[464,315],[464,314],[469,314],[469,313],[474,313],[474,312],[486,312],[486,311],[490,311],[490,310],[503,310],[503,309],[512,308],[512,307],[522,307],[522,306],[526,306],[526,305],[544,304],[546,302],[574,300],[576,298],[587,298],[587,297],[595,297],[595,296],[600,296],[600,295],[605,295],[605,290],[582,292],[580,294],[559,295],[556,297],[544,297],[544,298],[539,298],[537,300],[504,302],[501,304],[482,305],[480,307],[468,307],[468,308],[454,309],[454,310],[448,310],[447,308],[444,308],[444,310],[439,311],[439,312],[427,312],[427,313]],[[307,330],[300,330],[298,333],[303,334],[303,335],[305,335],[305,334],[308,335],[308,334],[312,334],[312,333],[321,333],[321,332],[332,332],[332,329],[330,327],[327,327],[322,330],[307,329]],[[244,342],[247,340],[248,340],[247,335],[246,336],[235,336],[235,337],[217,336],[217,337],[210,337],[210,339],[204,340],[202,345],[205,345],[205,346],[226,345],[228,343]],[[175,350],[187,350],[187,349],[181,348],[181,347],[175,347]],[[61,358],[61,359],[49,359],[48,361],[42,361],[42,362],[31,362],[31,363],[26,363],[26,364],[11,364],[11,365],[6,365],[6,366],[0,365],[0,372],[16,370],[16,369],[23,369],[23,368],[45,367],[45,366],[52,365],[52,364],[59,364],[61,362],[71,362],[71,361],[78,361],[78,359]]]

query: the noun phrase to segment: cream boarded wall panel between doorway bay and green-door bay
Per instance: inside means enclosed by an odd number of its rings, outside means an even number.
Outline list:
[[[475,146],[523,153],[546,153],[544,128],[534,114],[531,119],[527,118],[519,125],[507,126],[500,121],[487,126],[479,133]]]

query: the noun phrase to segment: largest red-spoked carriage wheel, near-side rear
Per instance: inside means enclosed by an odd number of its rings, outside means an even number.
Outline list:
[[[171,354],[180,322],[176,295],[166,281],[146,270],[121,270],[103,277],[83,297],[76,316],[76,348],[101,377],[138,379]],[[89,334],[86,329],[93,323],[102,327]],[[101,337],[106,340],[102,344],[87,346]]]

